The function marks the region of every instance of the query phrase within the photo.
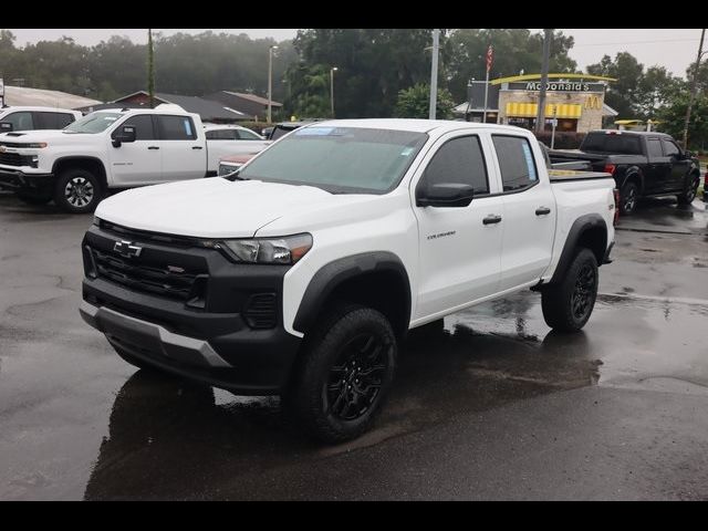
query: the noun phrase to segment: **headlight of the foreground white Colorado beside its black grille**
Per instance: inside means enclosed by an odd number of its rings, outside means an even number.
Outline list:
[[[293,264],[312,249],[312,235],[214,240],[202,243],[205,247],[222,250],[236,262]]]

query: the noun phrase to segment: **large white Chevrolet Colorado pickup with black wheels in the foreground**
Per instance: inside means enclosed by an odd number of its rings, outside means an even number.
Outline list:
[[[503,125],[302,127],[228,178],[104,200],[83,319],[128,363],[280,394],[325,441],[369,426],[408,330],[519,290],[576,331],[614,243],[608,174],[549,177]]]

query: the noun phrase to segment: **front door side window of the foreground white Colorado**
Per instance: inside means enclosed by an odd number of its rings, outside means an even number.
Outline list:
[[[487,166],[477,136],[446,142],[433,156],[420,179],[423,186],[460,184],[475,187],[475,194],[489,194]]]

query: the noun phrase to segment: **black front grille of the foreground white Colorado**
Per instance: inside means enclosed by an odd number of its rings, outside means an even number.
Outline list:
[[[200,271],[137,263],[134,259],[96,249],[93,249],[92,252],[98,277],[136,291],[189,301],[195,306],[202,305],[199,301],[204,301],[208,275]]]

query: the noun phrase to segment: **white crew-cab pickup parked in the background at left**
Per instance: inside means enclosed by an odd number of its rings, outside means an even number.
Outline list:
[[[91,212],[110,190],[216,176],[221,156],[267,145],[257,135],[207,139],[207,133],[226,136],[217,133],[222,129],[205,131],[199,115],[159,105],[97,111],[63,131],[6,133],[0,135],[0,188],[15,190],[27,202],[53,199],[65,211]]]

